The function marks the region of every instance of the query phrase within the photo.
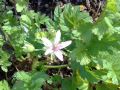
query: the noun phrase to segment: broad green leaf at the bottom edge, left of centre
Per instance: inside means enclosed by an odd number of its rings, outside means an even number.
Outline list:
[[[48,76],[43,72],[24,71],[17,72],[14,77],[17,79],[13,86],[13,90],[41,90],[41,86],[48,80]]]

